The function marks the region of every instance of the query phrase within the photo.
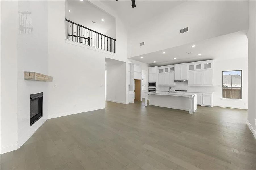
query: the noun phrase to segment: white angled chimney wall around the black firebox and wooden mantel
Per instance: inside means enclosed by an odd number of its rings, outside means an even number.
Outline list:
[[[48,118],[49,82],[24,80],[24,71],[48,75],[47,1],[18,1],[19,11],[31,11],[32,34],[18,34],[18,147]],[[30,126],[30,94],[43,92],[43,117]]]

